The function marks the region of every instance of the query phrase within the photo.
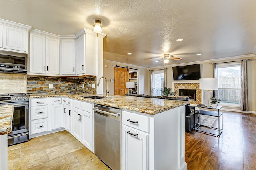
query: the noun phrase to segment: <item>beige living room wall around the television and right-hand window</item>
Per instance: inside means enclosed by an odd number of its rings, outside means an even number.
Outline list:
[[[249,104],[249,111],[250,112],[256,112],[256,60],[252,57],[249,57],[252,59],[252,61],[247,61],[247,78],[248,78],[248,104]],[[245,59],[249,59],[245,58]],[[226,60],[220,59],[214,61],[215,63],[219,62],[225,62],[225,61],[237,61],[244,59],[243,57],[241,58],[226,58]],[[212,78],[212,65],[209,63],[212,63],[212,61],[209,62],[200,62],[201,64],[201,78]],[[184,63],[184,64],[179,64],[179,65],[190,65],[190,64],[198,64],[198,62],[194,63]],[[174,66],[174,65],[173,65]],[[175,65],[177,66],[177,65]],[[172,87],[172,82],[173,82],[173,75],[172,75],[172,66],[165,66],[161,68],[148,68],[148,70],[158,70],[162,68],[167,68],[167,87]],[[149,78],[149,72],[148,72],[148,78]],[[149,80],[148,80],[148,87],[149,87]],[[149,92],[149,88],[148,88]],[[240,111],[240,108],[238,107],[226,107],[224,106],[224,109],[231,109],[232,111],[237,110]]]

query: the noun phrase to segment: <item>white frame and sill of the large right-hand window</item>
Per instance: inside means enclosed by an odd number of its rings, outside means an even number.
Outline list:
[[[217,70],[217,76],[218,76],[218,68],[226,68],[228,66],[240,66],[240,75],[241,75],[241,63],[229,63],[229,64],[217,64],[216,65],[216,70]],[[241,77],[240,77],[241,78]],[[231,88],[227,88],[227,89],[231,89]],[[218,104],[219,106],[226,106],[226,107],[240,107],[241,106],[241,84],[240,84],[240,88],[234,88],[234,89],[240,89],[240,94],[239,94],[239,104],[232,104],[232,103],[223,103],[220,101],[220,103]]]

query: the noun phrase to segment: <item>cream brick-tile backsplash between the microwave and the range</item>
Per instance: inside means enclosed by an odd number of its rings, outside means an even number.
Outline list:
[[[0,73],[0,94],[26,93],[27,75]]]

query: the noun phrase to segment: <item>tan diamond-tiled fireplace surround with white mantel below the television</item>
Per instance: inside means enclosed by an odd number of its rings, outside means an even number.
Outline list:
[[[172,82],[172,89],[176,92],[175,96],[179,96],[179,89],[195,89],[196,100],[190,100],[190,104],[198,105],[201,104],[202,92],[199,89],[199,81],[180,81]]]

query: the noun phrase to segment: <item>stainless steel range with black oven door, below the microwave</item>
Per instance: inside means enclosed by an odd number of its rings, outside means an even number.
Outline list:
[[[0,94],[0,105],[14,105],[8,146],[28,141],[28,98],[24,93]]]

